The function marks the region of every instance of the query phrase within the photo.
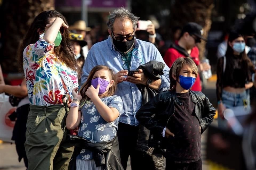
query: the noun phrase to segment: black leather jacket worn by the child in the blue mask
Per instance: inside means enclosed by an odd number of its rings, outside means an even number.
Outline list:
[[[202,127],[202,134],[213,121],[215,108],[203,93],[198,91],[190,91],[190,93],[192,102],[195,103],[194,112]],[[139,123],[150,130],[150,147],[166,149],[167,138],[162,137],[162,132],[175,112],[174,102],[182,104],[174,91],[161,92],[137,112],[136,118]],[[151,117],[153,114],[155,116]]]

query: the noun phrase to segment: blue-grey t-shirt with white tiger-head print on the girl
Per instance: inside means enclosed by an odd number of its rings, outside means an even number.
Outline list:
[[[116,108],[119,116],[123,113],[123,101],[120,96],[103,97],[101,100],[108,106]],[[109,141],[117,135],[117,126],[119,117],[108,123],[105,121],[92,101],[87,101],[81,108],[82,117],[78,129],[78,135],[93,143]],[[77,159],[93,159],[93,153],[89,150],[82,149]]]

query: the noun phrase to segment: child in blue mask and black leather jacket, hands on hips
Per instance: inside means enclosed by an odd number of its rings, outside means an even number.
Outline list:
[[[150,130],[149,147],[166,149],[166,169],[201,170],[201,134],[213,121],[215,108],[202,92],[190,90],[198,76],[190,57],[178,58],[169,75],[171,90],[143,105],[136,118]]]

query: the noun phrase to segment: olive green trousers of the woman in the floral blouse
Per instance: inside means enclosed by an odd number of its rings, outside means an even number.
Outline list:
[[[28,170],[67,170],[74,144],[66,141],[66,115],[63,105],[30,105],[25,149]]]

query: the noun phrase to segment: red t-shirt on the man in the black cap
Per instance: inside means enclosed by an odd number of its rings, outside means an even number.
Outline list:
[[[200,60],[199,60],[199,49],[197,48],[197,46],[193,47],[191,49],[191,53],[190,56],[192,58],[192,60],[195,62],[196,65],[200,64]],[[165,61],[165,63],[167,64],[167,66],[171,67],[174,63],[174,61],[179,58],[179,57],[184,57],[183,54],[179,53],[176,49],[174,48],[169,48],[166,53],[165,56],[163,57],[163,60]],[[185,58],[185,57],[184,57]],[[197,76],[194,85],[192,86],[191,90],[193,91],[202,91],[202,86],[201,86],[201,81],[200,81],[200,77],[199,75]]]

